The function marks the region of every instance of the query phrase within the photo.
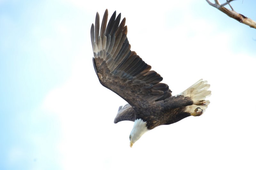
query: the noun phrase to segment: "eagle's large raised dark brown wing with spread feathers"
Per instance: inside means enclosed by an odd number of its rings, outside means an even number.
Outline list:
[[[163,78],[130,50],[125,18],[121,23],[120,19],[121,13],[116,17],[115,11],[107,25],[106,10],[100,28],[97,12],[95,28],[93,24],[91,27],[93,65],[100,83],[126,100],[135,110],[172,96],[169,86],[160,83]]]

